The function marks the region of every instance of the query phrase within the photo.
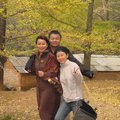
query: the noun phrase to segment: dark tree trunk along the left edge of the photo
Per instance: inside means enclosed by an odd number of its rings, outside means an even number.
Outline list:
[[[5,46],[5,32],[6,32],[6,1],[0,1],[0,9],[3,9],[3,12],[0,13],[0,53],[4,50]],[[3,67],[5,62],[5,57],[0,55],[0,65]],[[3,84],[3,74],[4,71],[0,67],[0,86]]]

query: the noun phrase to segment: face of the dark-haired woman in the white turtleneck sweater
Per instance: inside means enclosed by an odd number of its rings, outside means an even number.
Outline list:
[[[57,52],[56,57],[59,63],[65,63],[66,60],[68,59],[68,54],[66,54],[65,52],[59,51]]]

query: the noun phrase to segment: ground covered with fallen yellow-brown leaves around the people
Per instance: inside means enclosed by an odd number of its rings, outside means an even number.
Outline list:
[[[97,120],[120,119],[120,80],[86,81],[93,106],[97,106]],[[94,102],[93,102],[94,99]],[[0,91],[0,120],[39,120],[35,88],[28,91]]]

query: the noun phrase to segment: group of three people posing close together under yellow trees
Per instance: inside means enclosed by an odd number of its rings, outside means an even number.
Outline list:
[[[36,75],[37,101],[41,120],[64,120],[70,111],[75,111],[76,102],[83,99],[82,74],[92,78],[93,72],[87,70],[72,53],[61,46],[61,34],[57,30],[36,38],[38,51],[31,56],[26,70]],[[31,66],[32,65],[32,66]],[[54,84],[48,80],[60,82],[63,100]]]

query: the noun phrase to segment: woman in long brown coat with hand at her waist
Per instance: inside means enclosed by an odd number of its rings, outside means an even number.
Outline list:
[[[37,102],[41,120],[54,120],[60,104],[60,94],[49,79],[57,79],[59,64],[49,50],[49,41],[45,36],[36,38],[38,51],[35,53],[32,72],[37,80]]]

